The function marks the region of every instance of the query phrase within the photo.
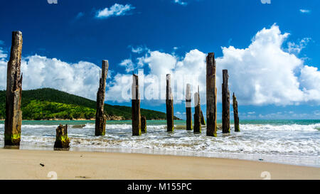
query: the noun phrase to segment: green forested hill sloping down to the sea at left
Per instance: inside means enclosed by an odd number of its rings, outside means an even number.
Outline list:
[[[95,101],[50,88],[23,90],[23,119],[95,119]],[[4,119],[6,91],[0,91],[0,119]],[[146,119],[166,119],[164,112],[141,109]],[[131,119],[131,107],[105,104],[108,119]],[[175,117],[175,119],[178,119]]]

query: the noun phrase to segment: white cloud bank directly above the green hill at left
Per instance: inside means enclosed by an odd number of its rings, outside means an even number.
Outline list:
[[[0,71],[6,72],[7,60],[0,60]],[[23,90],[51,87],[74,95],[96,98],[100,68],[89,62],[65,63],[39,55],[21,60]],[[0,90],[6,88],[6,73],[0,74]]]

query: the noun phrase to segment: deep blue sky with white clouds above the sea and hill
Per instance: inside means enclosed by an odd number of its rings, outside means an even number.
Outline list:
[[[215,52],[220,58],[217,66],[230,72],[230,92],[238,95],[240,119],[320,119],[317,0],[57,3],[1,2],[0,70],[5,70],[9,58],[11,31],[22,31],[23,89],[55,87],[95,99],[97,67],[107,59],[107,103],[130,105],[119,100],[119,89],[126,84],[115,77],[138,69],[145,75],[160,75],[161,70],[186,73],[188,65],[201,69],[203,56]],[[237,77],[243,75],[247,80]],[[4,90],[5,77],[0,76]],[[201,92],[202,102],[204,97]],[[165,111],[163,101],[142,100],[142,107]],[[202,108],[206,110],[206,105]],[[176,116],[184,117],[183,102],[174,109]]]

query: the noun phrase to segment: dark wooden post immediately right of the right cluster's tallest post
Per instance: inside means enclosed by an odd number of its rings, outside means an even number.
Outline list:
[[[230,93],[228,88],[228,70],[223,70],[223,84],[222,84],[222,122],[223,133],[230,133]]]

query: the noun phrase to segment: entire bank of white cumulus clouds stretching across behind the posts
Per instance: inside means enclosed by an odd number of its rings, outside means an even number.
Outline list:
[[[288,36],[289,33],[282,33],[274,24],[258,31],[247,48],[223,47],[223,55],[216,58],[218,101],[221,101],[222,70],[228,69],[230,95],[235,92],[239,104],[320,104],[320,71],[289,52],[289,45],[283,48]],[[305,47],[304,43],[302,45]],[[144,85],[140,94],[146,101],[165,99],[166,74],[171,74],[176,103],[183,102],[186,83],[191,83],[193,93],[199,85],[201,104],[206,103],[207,53],[193,49],[178,56],[146,49],[139,55],[136,59],[122,60],[119,65],[127,72],[144,68],[145,73],[138,75],[139,79],[144,77],[144,82],[139,81],[139,84]],[[0,72],[6,72],[8,55],[0,49],[0,56]],[[23,90],[52,87],[90,99],[96,97],[100,68],[93,63],[65,63],[56,58],[31,55],[23,58],[21,65]],[[114,72],[108,80],[107,100],[128,102],[132,74]],[[1,73],[0,90],[5,88],[6,73]]]

